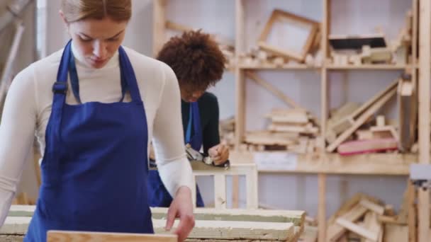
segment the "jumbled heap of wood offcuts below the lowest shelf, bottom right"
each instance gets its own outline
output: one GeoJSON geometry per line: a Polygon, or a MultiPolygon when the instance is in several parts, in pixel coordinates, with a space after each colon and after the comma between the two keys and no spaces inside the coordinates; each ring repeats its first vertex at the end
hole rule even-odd
{"type": "Polygon", "coordinates": [[[326,235],[326,241],[408,241],[408,226],[391,205],[357,194],[329,219],[326,235]]]}

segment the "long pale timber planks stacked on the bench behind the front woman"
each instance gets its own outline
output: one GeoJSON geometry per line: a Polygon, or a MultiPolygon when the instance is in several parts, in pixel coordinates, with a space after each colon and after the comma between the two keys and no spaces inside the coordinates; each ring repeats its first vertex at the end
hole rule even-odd
{"type": "MultiPolygon", "coordinates": [[[[6,238],[9,241],[22,241],[34,209],[35,206],[12,206],[0,229],[1,241],[6,238]]],[[[151,208],[151,212],[155,234],[172,233],[164,229],[167,208],[151,208]]],[[[195,227],[186,241],[296,242],[303,233],[305,220],[303,211],[264,209],[197,208],[194,215],[195,227]]],[[[175,221],[172,231],[178,222],[175,221]]],[[[88,238],[91,236],[95,235],[90,234],[88,238]]]]}

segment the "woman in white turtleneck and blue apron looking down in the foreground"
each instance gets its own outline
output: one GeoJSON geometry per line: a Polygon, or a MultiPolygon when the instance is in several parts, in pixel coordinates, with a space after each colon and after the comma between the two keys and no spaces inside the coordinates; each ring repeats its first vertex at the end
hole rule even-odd
{"type": "Polygon", "coordinates": [[[177,78],[166,64],[122,47],[130,0],[62,0],[71,40],[13,80],[0,125],[0,225],[33,136],[43,182],[25,241],[51,229],[153,233],[147,146],[174,197],[167,229],[194,226],[177,78]]]}

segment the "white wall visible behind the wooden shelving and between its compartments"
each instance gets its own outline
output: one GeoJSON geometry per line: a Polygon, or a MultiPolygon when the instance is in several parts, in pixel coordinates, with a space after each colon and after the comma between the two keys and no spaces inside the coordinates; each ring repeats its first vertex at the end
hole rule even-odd
{"type": "MultiPolygon", "coordinates": [[[[58,17],[59,1],[47,0],[47,52],[58,50],[67,41],[64,28],[58,17]]],[[[301,16],[320,21],[321,0],[247,0],[246,35],[247,46],[252,45],[274,7],[292,11],[301,16]]],[[[393,38],[404,21],[410,0],[334,0],[332,1],[332,33],[371,33],[381,25],[389,38],[393,38]]],[[[227,38],[235,38],[235,1],[231,0],[169,0],[167,16],[169,20],[203,28],[227,38]]],[[[133,0],[133,18],[130,22],[125,45],[143,54],[152,53],[152,1],[133,0]]],[[[333,71],[330,73],[330,106],[335,108],[346,101],[364,102],[379,89],[387,86],[400,73],[398,71],[333,71]]],[[[291,96],[315,115],[320,115],[320,74],[316,71],[261,71],[264,79],[291,96]]],[[[235,79],[226,72],[223,80],[211,88],[220,102],[220,117],[235,115],[235,79]]],[[[247,129],[262,129],[262,118],[274,107],[284,107],[284,103],[267,93],[251,81],[247,81],[247,129]],[[252,110],[251,110],[252,107],[252,110]]],[[[395,102],[385,107],[384,113],[395,117],[395,102]]],[[[332,175],[328,177],[328,216],[340,207],[347,197],[355,192],[366,192],[399,207],[405,177],[332,175]]],[[[204,200],[213,200],[212,179],[199,179],[204,200]]],[[[244,180],[241,180],[244,188],[244,180]]],[[[230,181],[228,182],[230,187],[230,181]]],[[[242,189],[244,190],[244,189],[242,189]]],[[[228,192],[230,195],[230,192],[228,192]]],[[[245,194],[240,192],[242,205],[245,194]]],[[[317,214],[317,178],[315,175],[274,175],[259,174],[259,202],[282,209],[305,209],[310,215],[317,214]]]]}

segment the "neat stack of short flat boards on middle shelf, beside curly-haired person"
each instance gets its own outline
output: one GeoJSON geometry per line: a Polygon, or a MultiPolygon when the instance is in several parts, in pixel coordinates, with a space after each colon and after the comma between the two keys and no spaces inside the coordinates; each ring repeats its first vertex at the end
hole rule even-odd
{"type": "Polygon", "coordinates": [[[245,142],[249,150],[277,149],[298,154],[315,151],[319,129],[306,110],[274,109],[266,117],[271,120],[267,130],[247,133],[245,142]]]}

